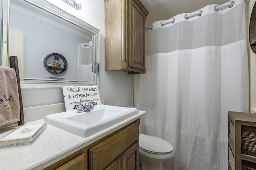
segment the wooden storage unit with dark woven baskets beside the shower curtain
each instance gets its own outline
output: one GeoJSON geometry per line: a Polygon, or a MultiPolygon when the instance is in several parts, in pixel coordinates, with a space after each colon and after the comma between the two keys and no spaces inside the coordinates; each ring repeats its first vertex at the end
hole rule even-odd
{"type": "Polygon", "coordinates": [[[228,169],[256,170],[256,114],[228,111],[228,169]]]}

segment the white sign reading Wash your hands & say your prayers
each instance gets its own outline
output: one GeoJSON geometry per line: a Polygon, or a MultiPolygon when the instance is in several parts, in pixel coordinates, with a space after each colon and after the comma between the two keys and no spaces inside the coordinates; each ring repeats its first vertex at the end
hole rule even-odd
{"type": "Polygon", "coordinates": [[[66,111],[77,109],[79,104],[74,102],[81,102],[85,106],[95,99],[92,104],[101,104],[98,86],[64,86],[62,90],[66,111]]]}

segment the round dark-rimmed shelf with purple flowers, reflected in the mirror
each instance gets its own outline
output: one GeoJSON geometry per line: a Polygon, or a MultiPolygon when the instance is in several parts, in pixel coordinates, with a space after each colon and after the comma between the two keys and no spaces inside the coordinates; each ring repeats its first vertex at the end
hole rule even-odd
{"type": "Polygon", "coordinates": [[[46,55],[46,57],[44,57],[44,68],[50,72],[50,73],[62,73],[64,71],[66,71],[68,67],[68,63],[67,60],[65,59],[65,57],[61,54],[58,53],[52,53],[49,55],[46,55]],[[58,59],[58,67],[54,67],[54,55],[58,55],[60,56],[60,59],[58,59]],[[64,66],[60,66],[60,64],[64,64],[64,66]]]}

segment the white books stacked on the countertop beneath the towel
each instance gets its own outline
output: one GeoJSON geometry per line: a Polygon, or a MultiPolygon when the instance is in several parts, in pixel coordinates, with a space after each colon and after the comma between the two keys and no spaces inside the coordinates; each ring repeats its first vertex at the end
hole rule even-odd
{"type": "Polygon", "coordinates": [[[0,148],[31,144],[46,128],[47,123],[22,125],[0,139],[0,148]]]}

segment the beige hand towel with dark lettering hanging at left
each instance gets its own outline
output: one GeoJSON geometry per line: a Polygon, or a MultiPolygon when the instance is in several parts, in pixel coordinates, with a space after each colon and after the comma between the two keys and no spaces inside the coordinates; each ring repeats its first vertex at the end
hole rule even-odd
{"type": "Polygon", "coordinates": [[[0,66],[0,126],[20,121],[20,101],[16,72],[0,66]]]}

